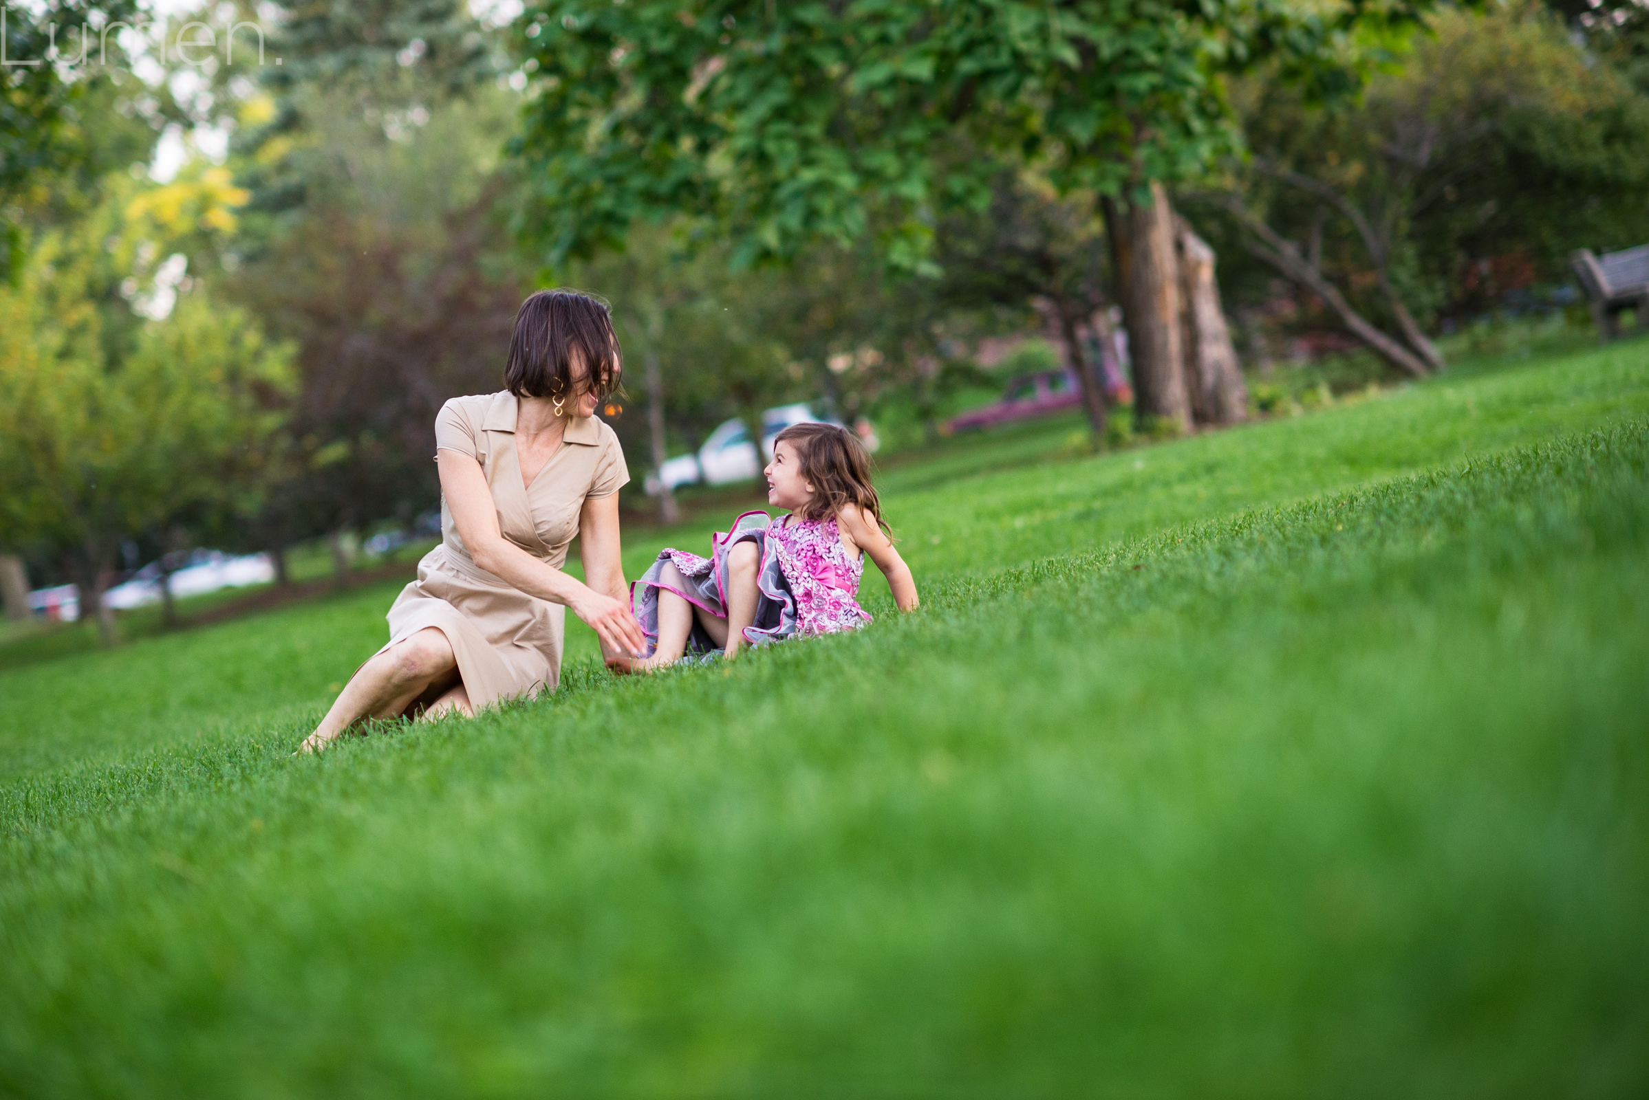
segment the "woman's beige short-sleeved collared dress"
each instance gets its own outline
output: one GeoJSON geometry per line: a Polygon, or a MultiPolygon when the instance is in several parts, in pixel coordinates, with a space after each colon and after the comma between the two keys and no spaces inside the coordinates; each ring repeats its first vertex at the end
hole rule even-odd
{"type": "MultiPolygon", "coordinates": [[[[584,501],[617,492],[630,471],[613,430],[594,417],[579,418],[567,425],[561,450],[528,487],[516,459],[514,422],[516,399],[510,392],[453,397],[435,417],[435,450],[477,459],[493,491],[498,530],[559,570],[579,534],[584,501]]],[[[434,626],[452,644],[463,688],[480,708],[556,688],[566,613],[477,566],[444,497],[440,545],[424,555],[417,580],[389,608],[384,649],[434,626]]]]}

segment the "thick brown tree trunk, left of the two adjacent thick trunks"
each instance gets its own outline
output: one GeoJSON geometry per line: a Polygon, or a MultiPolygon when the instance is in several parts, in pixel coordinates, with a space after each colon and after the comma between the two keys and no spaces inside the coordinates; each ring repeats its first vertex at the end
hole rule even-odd
{"type": "Polygon", "coordinates": [[[1187,431],[1191,400],[1179,329],[1174,209],[1163,184],[1151,183],[1151,201],[1143,206],[1105,199],[1105,229],[1116,263],[1116,300],[1128,328],[1135,417],[1141,426],[1166,420],[1187,431]]]}

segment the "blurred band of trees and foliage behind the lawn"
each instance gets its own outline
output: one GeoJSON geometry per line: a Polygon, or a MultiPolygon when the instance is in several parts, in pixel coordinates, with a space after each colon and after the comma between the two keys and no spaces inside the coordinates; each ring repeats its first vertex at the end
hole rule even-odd
{"type": "Polygon", "coordinates": [[[1100,372],[1131,344],[1156,400],[1118,267],[1156,184],[1219,257],[1248,415],[1586,341],[1568,252],[1649,242],[1649,40],[1609,0],[30,12],[13,58],[155,20],[0,81],[0,552],[94,608],[195,545],[323,540],[341,576],[414,530],[435,410],[500,385],[541,285],[613,303],[650,510],[648,468],[796,400],[899,450],[1069,366],[1125,443],[1100,372]]]}

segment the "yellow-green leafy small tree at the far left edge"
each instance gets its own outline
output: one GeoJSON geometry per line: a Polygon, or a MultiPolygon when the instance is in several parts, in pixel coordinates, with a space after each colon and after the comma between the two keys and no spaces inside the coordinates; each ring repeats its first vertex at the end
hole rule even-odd
{"type": "Polygon", "coordinates": [[[107,221],[48,234],[0,290],[0,547],[61,558],[114,644],[124,538],[256,506],[290,352],[204,290],[107,331],[107,221]]]}

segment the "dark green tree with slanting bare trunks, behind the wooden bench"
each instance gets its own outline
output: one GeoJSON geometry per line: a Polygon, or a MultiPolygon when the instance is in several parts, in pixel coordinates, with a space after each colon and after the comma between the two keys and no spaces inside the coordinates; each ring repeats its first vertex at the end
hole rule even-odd
{"type": "Polygon", "coordinates": [[[1425,328],[1473,263],[1522,255],[1563,278],[1570,249],[1649,234],[1649,99],[1530,5],[1441,12],[1430,31],[1355,97],[1238,87],[1253,158],[1207,196],[1410,375],[1441,369],[1425,328]]]}

